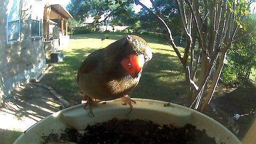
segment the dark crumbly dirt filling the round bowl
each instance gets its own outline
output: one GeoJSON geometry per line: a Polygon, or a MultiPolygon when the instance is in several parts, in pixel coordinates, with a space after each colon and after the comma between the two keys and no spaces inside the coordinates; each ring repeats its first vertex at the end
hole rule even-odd
{"type": "Polygon", "coordinates": [[[216,143],[207,136],[205,130],[186,124],[183,127],[154,124],[140,119],[111,119],[110,121],[88,125],[84,130],[66,128],[61,134],[51,133],[42,137],[43,143],[216,143]]]}

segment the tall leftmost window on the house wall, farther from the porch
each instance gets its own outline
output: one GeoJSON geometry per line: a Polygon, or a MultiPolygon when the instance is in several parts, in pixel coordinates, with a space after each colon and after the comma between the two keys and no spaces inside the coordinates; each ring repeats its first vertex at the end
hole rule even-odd
{"type": "Polygon", "coordinates": [[[7,43],[20,41],[20,0],[10,0],[7,5],[7,43]]]}

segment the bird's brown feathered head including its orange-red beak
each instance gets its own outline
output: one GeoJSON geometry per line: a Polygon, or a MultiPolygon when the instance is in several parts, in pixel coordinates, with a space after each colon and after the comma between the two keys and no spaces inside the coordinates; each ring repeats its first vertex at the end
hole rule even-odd
{"type": "Polygon", "coordinates": [[[143,38],[134,35],[126,36],[123,46],[126,55],[121,60],[121,66],[132,78],[136,78],[145,63],[152,59],[152,50],[143,38]]]}

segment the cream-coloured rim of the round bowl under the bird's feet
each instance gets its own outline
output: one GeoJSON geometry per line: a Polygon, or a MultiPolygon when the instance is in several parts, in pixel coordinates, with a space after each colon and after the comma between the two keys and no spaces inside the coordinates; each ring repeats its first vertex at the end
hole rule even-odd
{"type": "Polygon", "coordinates": [[[113,118],[142,119],[159,125],[173,124],[177,127],[190,123],[199,130],[204,129],[206,134],[209,137],[214,137],[217,143],[241,143],[225,126],[196,110],[164,101],[133,100],[137,103],[133,104],[130,114],[129,106],[123,106],[121,99],[98,103],[92,108],[94,117],[90,114],[89,108],[83,108],[84,105],[60,110],[31,126],[14,143],[42,143],[42,136],[52,132],[61,133],[61,130],[65,130],[66,127],[82,130],[87,125],[106,122],[113,118]]]}

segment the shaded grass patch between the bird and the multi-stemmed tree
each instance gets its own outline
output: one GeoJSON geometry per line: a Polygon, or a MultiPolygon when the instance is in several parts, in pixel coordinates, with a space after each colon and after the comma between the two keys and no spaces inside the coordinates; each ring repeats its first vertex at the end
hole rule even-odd
{"type": "Polygon", "coordinates": [[[182,70],[174,56],[154,53],[154,58],[143,69],[141,81],[131,92],[131,97],[172,102],[187,93],[182,70]]]}

